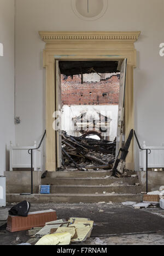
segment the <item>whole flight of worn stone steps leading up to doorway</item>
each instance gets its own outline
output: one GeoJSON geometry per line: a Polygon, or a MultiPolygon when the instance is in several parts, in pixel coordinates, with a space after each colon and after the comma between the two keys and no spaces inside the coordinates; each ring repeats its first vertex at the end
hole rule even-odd
{"type": "MultiPolygon", "coordinates": [[[[34,173],[35,174],[35,173],[34,173]]],[[[136,175],[136,172],[128,171],[127,175],[136,175]]],[[[38,185],[33,186],[31,195],[30,183],[24,186],[8,184],[7,202],[38,203],[97,203],[97,202],[125,202],[142,201],[144,191],[136,177],[111,177],[111,171],[57,171],[48,172],[44,179],[38,177],[38,185]],[[50,185],[50,194],[39,194],[39,184],[50,185]],[[106,193],[103,193],[106,192],[106,193]],[[115,192],[115,193],[112,193],[115,192]]],[[[22,174],[22,179],[25,175],[22,174]]],[[[25,183],[25,182],[24,182],[25,183]]]]}

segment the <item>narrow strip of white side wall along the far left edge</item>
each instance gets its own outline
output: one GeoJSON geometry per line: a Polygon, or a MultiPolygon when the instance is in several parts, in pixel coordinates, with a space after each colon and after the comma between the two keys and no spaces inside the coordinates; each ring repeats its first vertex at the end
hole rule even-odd
{"type": "Polygon", "coordinates": [[[14,142],[14,0],[0,0],[0,175],[9,170],[9,144],[14,142]]]}

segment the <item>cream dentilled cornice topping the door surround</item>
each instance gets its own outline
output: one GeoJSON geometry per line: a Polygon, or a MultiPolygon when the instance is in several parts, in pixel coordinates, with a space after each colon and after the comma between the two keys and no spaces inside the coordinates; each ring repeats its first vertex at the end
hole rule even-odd
{"type": "Polygon", "coordinates": [[[109,31],[39,31],[39,35],[46,43],[56,41],[116,41],[116,42],[136,42],[140,31],[109,32],[109,31]]]}

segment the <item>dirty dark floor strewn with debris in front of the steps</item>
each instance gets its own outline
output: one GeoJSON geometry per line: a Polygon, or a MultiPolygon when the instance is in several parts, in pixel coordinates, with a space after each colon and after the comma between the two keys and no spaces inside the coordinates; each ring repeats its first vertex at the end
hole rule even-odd
{"type": "MultiPolygon", "coordinates": [[[[0,218],[5,209],[0,208],[0,218]]],[[[164,211],[157,208],[133,209],[121,203],[68,204],[47,203],[31,204],[30,212],[55,209],[58,219],[71,216],[90,218],[94,221],[91,237],[80,245],[114,245],[114,244],[164,244],[164,211]]],[[[36,243],[30,240],[26,231],[10,233],[0,221],[0,245],[36,243]],[[30,241],[29,241],[30,240],[30,241]]]]}

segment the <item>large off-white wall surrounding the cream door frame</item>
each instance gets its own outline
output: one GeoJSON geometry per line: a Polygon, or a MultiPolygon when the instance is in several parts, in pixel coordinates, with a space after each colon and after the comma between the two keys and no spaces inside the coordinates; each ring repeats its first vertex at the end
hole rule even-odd
{"type": "MultiPolygon", "coordinates": [[[[71,0],[16,0],[16,141],[31,144],[45,127],[44,42],[39,30],[141,31],[136,42],[134,71],[135,127],[139,141],[164,142],[163,64],[159,45],[164,42],[163,0],[110,0],[102,18],[84,21],[71,9],[71,0]]],[[[136,169],[139,165],[135,153],[136,169]]]]}

